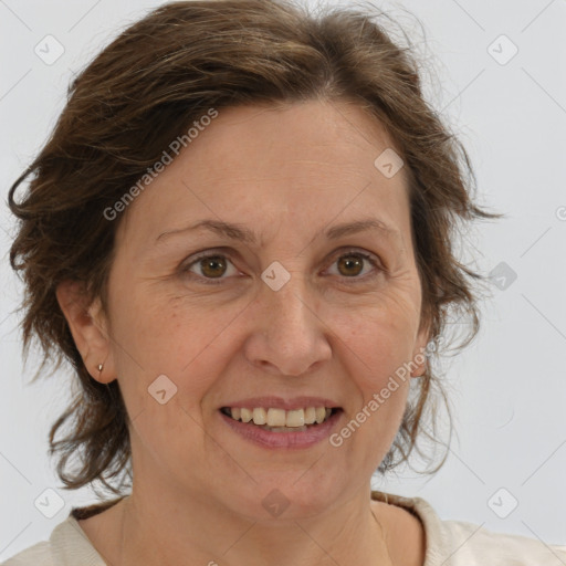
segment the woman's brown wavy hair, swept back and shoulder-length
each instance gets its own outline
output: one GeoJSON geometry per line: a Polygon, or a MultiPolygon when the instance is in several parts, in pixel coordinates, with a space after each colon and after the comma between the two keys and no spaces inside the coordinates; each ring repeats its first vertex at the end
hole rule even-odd
{"type": "MultiPolygon", "coordinates": [[[[410,40],[403,32],[408,46],[396,44],[380,18],[389,21],[375,8],[326,6],[314,13],[291,0],[167,3],[122,32],[72,81],[49,140],[8,197],[19,219],[10,263],[24,283],[23,356],[35,338],[43,357],[34,379],[46,365],[56,370],[66,360],[80,384],[49,438],[64,489],[101,482],[123,494],[132,485],[132,462],[118,382],[91,377],[55,290],[65,280],[82,282],[86,296],[99,297],[106,310],[123,218],[111,222],[104,210],[211,107],[347,99],[365,108],[395,142],[408,171],[421,316],[430,321],[431,338],[444,337],[451,313],[470,322],[459,348],[476,335],[474,283],[483,276],[458,261],[453,243],[459,226],[500,214],[472,201],[475,178],[467,151],[424,101],[410,40]],[[27,178],[28,190],[17,201],[27,178]],[[66,436],[55,440],[65,422],[66,436]],[[73,458],[78,467],[67,470],[73,458]]],[[[437,400],[447,400],[432,361],[449,343],[432,353],[420,379],[411,379],[381,473],[408,461],[418,437],[434,440],[423,416],[429,408],[436,417],[437,400]]]]}

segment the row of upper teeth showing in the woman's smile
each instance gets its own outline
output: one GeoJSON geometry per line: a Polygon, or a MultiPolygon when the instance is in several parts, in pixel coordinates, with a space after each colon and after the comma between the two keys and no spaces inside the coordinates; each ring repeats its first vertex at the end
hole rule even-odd
{"type": "Polygon", "coordinates": [[[332,413],[332,409],[326,407],[306,407],[305,409],[293,409],[286,411],[285,409],[255,407],[253,409],[245,409],[234,407],[230,409],[232,419],[241,420],[242,422],[252,422],[266,430],[273,432],[289,432],[290,430],[303,431],[306,430],[306,424],[321,424],[332,413]]]}

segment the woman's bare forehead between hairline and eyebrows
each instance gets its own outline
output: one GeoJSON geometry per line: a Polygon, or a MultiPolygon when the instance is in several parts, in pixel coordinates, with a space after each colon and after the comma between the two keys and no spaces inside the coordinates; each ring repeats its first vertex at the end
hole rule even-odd
{"type": "Polygon", "coordinates": [[[274,223],[319,231],[333,219],[371,212],[403,232],[410,229],[406,175],[401,168],[388,178],[376,167],[386,150],[395,150],[391,139],[353,103],[219,109],[128,207],[119,238],[146,245],[203,218],[260,234],[274,223]]]}

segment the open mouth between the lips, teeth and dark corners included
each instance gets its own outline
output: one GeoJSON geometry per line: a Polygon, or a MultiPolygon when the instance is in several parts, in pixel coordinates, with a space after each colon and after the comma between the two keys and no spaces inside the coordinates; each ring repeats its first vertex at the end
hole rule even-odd
{"type": "Polygon", "coordinates": [[[222,407],[220,412],[234,421],[276,433],[306,432],[340,412],[339,407],[305,407],[285,410],[279,407],[222,407]]]}

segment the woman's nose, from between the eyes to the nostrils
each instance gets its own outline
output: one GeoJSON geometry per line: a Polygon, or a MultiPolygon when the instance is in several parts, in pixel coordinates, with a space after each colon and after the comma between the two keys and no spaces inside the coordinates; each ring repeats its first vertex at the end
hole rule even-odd
{"type": "Polygon", "coordinates": [[[265,285],[253,306],[245,342],[250,364],[272,375],[302,376],[331,359],[329,327],[319,304],[298,275],[279,291],[265,285]]]}

